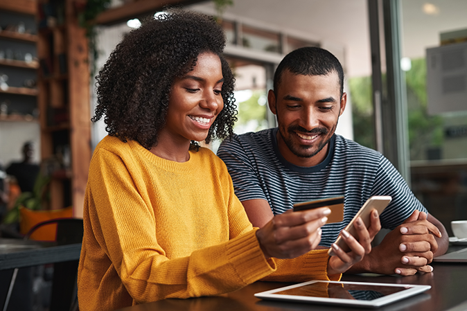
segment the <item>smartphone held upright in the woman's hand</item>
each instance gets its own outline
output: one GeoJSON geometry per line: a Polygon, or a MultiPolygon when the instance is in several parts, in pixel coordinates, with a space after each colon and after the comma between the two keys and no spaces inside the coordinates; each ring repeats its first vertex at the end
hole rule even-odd
{"type": "MultiPolygon", "coordinates": [[[[371,224],[370,220],[370,214],[373,209],[376,209],[378,211],[378,215],[381,215],[382,211],[386,208],[386,206],[391,202],[392,197],[389,195],[375,195],[373,197],[370,197],[367,199],[367,202],[363,204],[362,208],[360,208],[360,211],[353,217],[351,222],[345,227],[345,231],[349,232],[354,238],[358,240],[358,234],[357,234],[357,229],[355,229],[355,226],[353,226],[353,222],[357,219],[357,217],[361,217],[363,223],[365,226],[368,228],[371,224]]],[[[344,239],[342,239],[341,236],[337,237],[337,240],[335,241],[335,244],[337,244],[338,247],[343,249],[346,253],[349,252],[351,249],[350,247],[344,242],[344,239]]],[[[329,256],[334,256],[335,253],[332,248],[329,249],[328,251],[329,256]]]]}

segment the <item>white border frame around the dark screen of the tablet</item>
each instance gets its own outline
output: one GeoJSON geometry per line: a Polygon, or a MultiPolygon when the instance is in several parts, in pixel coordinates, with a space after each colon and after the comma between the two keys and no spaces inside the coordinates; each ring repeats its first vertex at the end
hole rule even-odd
{"type": "Polygon", "coordinates": [[[279,287],[274,290],[267,290],[265,292],[259,292],[254,294],[257,298],[275,300],[275,301],[294,301],[294,302],[303,302],[303,303],[321,303],[321,304],[332,304],[332,305],[350,305],[350,306],[361,306],[365,308],[378,308],[382,305],[387,305],[389,303],[394,303],[400,301],[409,296],[414,296],[420,294],[427,290],[430,290],[430,285],[414,285],[414,284],[391,284],[391,283],[370,283],[370,282],[351,282],[351,281],[308,281],[303,283],[298,283],[294,285],[289,285],[285,287],[279,287]],[[396,292],[389,294],[387,296],[382,296],[371,301],[367,300],[353,300],[353,299],[340,299],[340,298],[328,298],[328,297],[310,297],[310,296],[295,296],[295,295],[284,295],[284,294],[274,294],[274,292],[280,292],[283,290],[290,290],[292,288],[301,287],[303,285],[308,285],[312,283],[342,283],[342,284],[355,284],[355,285],[376,285],[376,286],[387,286],[387,287],[409,287],[406,290],[401,292],[396,292]]]}

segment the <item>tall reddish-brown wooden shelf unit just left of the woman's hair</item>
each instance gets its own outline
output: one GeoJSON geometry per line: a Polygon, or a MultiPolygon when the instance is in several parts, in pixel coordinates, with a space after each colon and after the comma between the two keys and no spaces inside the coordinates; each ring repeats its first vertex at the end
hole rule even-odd
{"type": "Polygon", "coordinates": [[[37,16],[37,102],[42,162],[51,177],[49,208],[73,206],[73,216],[82,217],[91,160],[87,37],[71,0],[41,0],[37,16]]]}

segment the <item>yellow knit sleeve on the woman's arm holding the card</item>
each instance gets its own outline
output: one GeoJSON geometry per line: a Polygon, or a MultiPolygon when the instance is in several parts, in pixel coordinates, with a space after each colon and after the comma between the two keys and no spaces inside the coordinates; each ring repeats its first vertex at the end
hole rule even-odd
{"type": "Polygon", "coordinates": [[[94,236],[137,303],[231,292],[274,272],[252,229],[191,256],[168,258],[154,211],[133,178],[120,157],[101,149],[91,162],[88,191],[94,236]]]}

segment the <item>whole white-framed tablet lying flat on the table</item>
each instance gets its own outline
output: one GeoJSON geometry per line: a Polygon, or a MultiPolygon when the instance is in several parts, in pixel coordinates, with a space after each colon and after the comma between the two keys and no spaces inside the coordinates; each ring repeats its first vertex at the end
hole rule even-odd
{"type": "Polygon", "coordinates": [[[260,292],[254,296],[276,301],[295,301],[346,305],[363,308],[378,308],[409,296],[430,290],[430,285],[308,281],[276,290],[260,292]]]}

